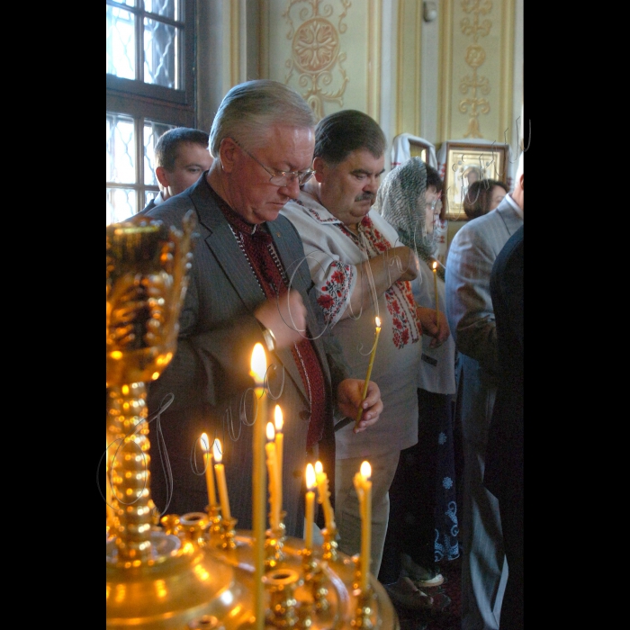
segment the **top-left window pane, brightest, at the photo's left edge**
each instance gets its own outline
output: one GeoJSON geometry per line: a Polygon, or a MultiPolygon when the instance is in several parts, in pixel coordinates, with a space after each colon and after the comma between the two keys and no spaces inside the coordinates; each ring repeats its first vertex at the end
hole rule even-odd
{"type": "Polygon", "coordinates": [[[105,72],[122,78],[136,78],[135,16],[109,4],[106,9],[105,72]]]}

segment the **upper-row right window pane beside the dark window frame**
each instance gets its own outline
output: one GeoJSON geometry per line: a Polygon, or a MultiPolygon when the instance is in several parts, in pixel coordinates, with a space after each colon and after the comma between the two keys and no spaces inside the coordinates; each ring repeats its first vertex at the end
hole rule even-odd
{"type": "Polygon", "coordinates": [[[175,26],[144,20],[144,81],[179,89],[177,47],[179,30],[175,26]]]}

